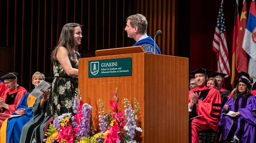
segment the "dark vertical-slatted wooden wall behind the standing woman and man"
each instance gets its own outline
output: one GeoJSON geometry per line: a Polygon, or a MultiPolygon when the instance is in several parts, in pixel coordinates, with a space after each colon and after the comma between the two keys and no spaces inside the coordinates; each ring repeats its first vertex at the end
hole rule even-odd
{"type": "MultiPolygon", "coordinates": [[[[36,71],[53,76],[50,54],[57,45],[62,27],[76,22],[84,25],[79,52],[83,58],[94,57],[95,50],[129,47],[126,18],[143,14],[148,20],[147,34],[154,38],[165,55],[174,55],[175,27],[173,1],[153,0],[0,0],[0,47],[12,48],[11,64],[0,67],[19,72],[18,83],[33,88],[31,76],[36,71]],[[5,22],[2,22],[5,21],[5,22]]],[[[177,55],[176,55],[177,56],[177,55]]]]}

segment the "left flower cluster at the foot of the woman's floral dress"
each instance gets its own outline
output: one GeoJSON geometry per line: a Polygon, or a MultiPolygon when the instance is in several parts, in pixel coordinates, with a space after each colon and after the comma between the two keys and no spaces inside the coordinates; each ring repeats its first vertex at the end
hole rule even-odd
{"type": "Polygon", "coordinates": [[[87,103],[83,104],[78,92],[78,89],[76,89],[77,94],[75,95],[73,106],[75,115],[64,113],[54,117],[53,124],[50,123],[49,129],[47,129],[46,136],[48,137],[43,140],[44,142],[77,143],[82,141],[82,137],[90,137],[94,134],[91,127],[91,111],[93,107],[87,103]]]}

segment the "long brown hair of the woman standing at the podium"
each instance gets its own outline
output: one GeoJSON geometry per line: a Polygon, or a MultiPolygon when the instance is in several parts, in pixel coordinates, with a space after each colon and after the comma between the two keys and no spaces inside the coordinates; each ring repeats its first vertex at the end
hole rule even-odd
{"type": "Polygon", "coordinates": [[[62,31],[59,36],[59,41],[58,45],[55,47],[55,49],[52,51],[51,54],[51,60],[55,61],[56,59],[56,54],[58,51],[58,47],[65,47],[68,54],[71,57],[72,61],[75,61],[75,53],[74,51],[78,52],[78,46],[75,43],[75,38],[74,38],[74,28],[76,26],[79,26],[82,28],[82,25],[78,23],[67,23],[63,26],[62,31]]]}

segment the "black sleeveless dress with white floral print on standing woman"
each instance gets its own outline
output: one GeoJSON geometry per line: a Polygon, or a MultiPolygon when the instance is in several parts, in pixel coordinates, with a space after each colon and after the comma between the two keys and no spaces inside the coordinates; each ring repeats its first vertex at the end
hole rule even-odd
{"type": "MultiPolygon", "coordinates": [[[[72,68],[78,69],[79,54],[75,53],[76,62],[72,61],[70,56],[70,63],[72,68]]],[[[78,78],[71,77],[66,74],[58,60],[53,62],[54,80],[52,82],[52,89],[47,102],[46,116],[60,116],[63,113],[73,113],[73,100],[75,91],[78,87],[78,78]]]]}

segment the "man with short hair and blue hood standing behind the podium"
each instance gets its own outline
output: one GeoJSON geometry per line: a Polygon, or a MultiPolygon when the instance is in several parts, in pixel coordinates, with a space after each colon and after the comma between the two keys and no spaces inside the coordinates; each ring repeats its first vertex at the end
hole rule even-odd
{"type": "Polygon", "coordinates": [[[127,36],[136,41],[132,46],[142,46],[146,52],[154,53],[155,51],[156,54],[161,54],[157,44],[147,35],[147,27],[148,21],[142,14],[134,14],[126,19],[125,31],[127,31],[127,36]]]}

